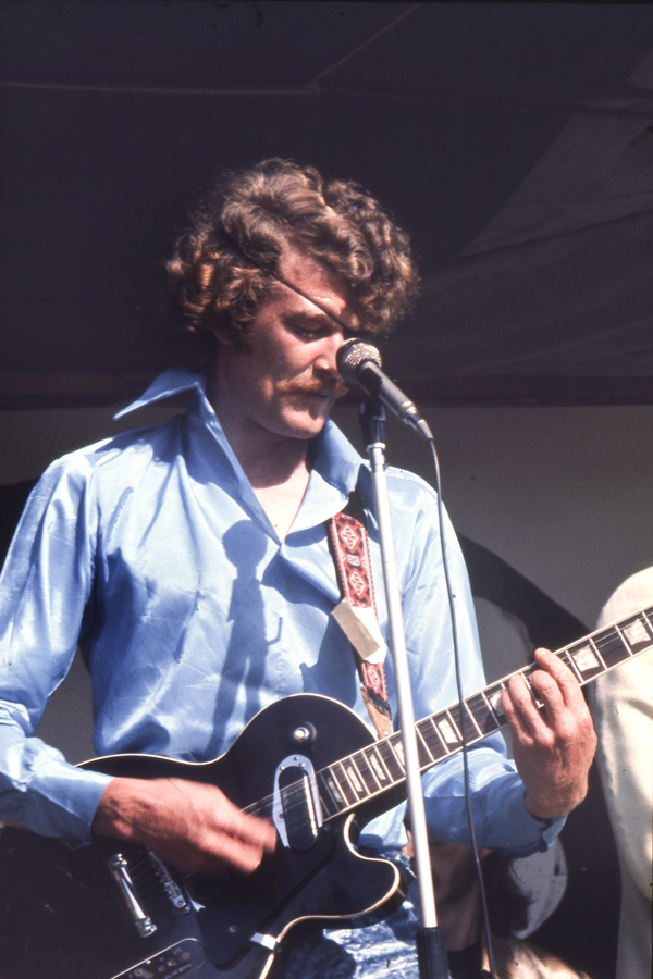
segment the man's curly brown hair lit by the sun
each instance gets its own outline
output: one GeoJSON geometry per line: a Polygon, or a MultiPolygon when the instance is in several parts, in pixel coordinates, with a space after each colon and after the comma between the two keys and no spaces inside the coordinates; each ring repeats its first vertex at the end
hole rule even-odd
{"type": "Polygon", "coordinates": [[[348,284],[365,334],[386,335],[406,311],[417,285],[408,236],[379,202],[352,181],[264,160],[220,178],[174,246],[167,306],[177,356],[206,367],[217,327],[246,344],[288,246],[348,284]]]}

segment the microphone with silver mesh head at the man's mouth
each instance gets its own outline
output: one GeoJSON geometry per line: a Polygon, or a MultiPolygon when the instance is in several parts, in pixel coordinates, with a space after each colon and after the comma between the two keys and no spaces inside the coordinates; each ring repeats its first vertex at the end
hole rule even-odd
{"type": "Polygon", "coordinates": [[[354,337],[345,340],[335,359],[347,384],[358,384],[366,394],[383,401],[398,419],[419,432],[422,438],[432,441],[431,430],[410,398],[381,370],[381,355],[375,347],[354,337]]]}

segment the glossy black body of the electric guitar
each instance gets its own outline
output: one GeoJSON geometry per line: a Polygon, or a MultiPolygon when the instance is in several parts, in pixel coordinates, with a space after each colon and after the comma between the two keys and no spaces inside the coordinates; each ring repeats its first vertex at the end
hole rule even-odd
{"type": "MultiPolygon", "coordinates": [[[[83,767],[209,782],[246,809],[271,802],[275,771],[286,759],[300,754],[318,771],[371,742],[367,727],[347,707],[306,694],[266,708],[215,761],[120,755],[83,767]],[[300,744],[298,729],[308,732],[300,744]]],[[[0,977],[260,979],[272,965],[274,942],[295,922],[347,918],[392,897],[401,901],[396,868],[358,855],[350,845],[356,833],[353,815],[325,821],[308,843],[291,833],[289,845],[280,840],[255,873],[197,882],[190,891],[194,907],[173,880],[177,903],[185,904],[178,907],[169,893],[170,878],[162,878],[141,847],[99,839],[71,850],[7,827],[0,832],[0,977]],[[156,927],[151,934],[139,933],[138,916],[109,867],[116,854],[126,862],[140,912],[156,927]],[[204,907],[196,910],[197,904],[204,907]]]]}

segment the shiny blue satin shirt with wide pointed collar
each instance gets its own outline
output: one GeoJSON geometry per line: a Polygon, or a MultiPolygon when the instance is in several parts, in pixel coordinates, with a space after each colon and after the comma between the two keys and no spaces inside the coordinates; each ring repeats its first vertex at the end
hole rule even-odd
{"type": "MultiPolygon", "coordinates": [[[[331,618],[340,594],[324,528],[357,484],[371,509],[367,463],[328,421],[280,542],[200,375],[167,371],[125,411],[189,388],[185,414],[63,457],[29,498],[0,582],[0,819],[73,844],[91,838],[108,778],[33,736],[78,642],[93,676],[99,755],[210,760],[266,705],[303,692],[342,701],[369,721],[352,649],[331,618]]],[[[389,492],[419,718],[457,699],[435,495],[396,469],[389,492]]],[[[467,695],[484,678],[448,524],[446,535],[467,695]]],[[[373,518],[369,536],[386,634],[373,518]]],[[[387,681],[394,708],[390,657],[387,681]]],[[[545,847],[562,821],[549,827],[528,814],[503,740],[494,735],[469,756],[479,844],[518,854],[545,847]]],[[[433,838],[465,842],[460,756],[428,772],[424,785],[433,838]]],[[[361,843],[401,844],[403,815],[397,807],[369,823],[361,843]]]]}

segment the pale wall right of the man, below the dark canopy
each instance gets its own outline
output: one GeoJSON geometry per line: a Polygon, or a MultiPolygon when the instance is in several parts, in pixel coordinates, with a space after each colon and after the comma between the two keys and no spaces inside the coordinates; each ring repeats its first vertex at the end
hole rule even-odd
{"type": "MultiPolygon", "coordinates": [[[[653,562],[653,406],[424,411],[456,529],[593,625],[611,591],[653,562]]],[[[429,478],[389,429],[389,461],[429,478]]]]}

